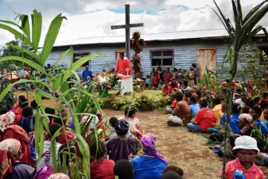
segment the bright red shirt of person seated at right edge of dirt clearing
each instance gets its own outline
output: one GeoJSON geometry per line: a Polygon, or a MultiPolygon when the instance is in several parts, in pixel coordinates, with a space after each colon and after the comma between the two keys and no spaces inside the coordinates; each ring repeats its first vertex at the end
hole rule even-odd
{"type": "Polygon", "coordinates": [[[194,123],[198,124],[201,130],[207,132],[208,128],[214,126],[212,123],[215,123],[215,118],[212,111],[209,108],[203,107],[197,112],[197,115],[193,121],[194,123]]]}

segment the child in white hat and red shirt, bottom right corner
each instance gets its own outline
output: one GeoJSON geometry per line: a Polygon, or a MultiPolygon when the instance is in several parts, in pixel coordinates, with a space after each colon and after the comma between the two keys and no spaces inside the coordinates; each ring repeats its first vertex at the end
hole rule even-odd
{"type": "MultiPolygon", "coordinates": [[[[249,136],[241,136],[235,140],[233,148],[237,158],[226,164],[225,177],[233,178],[258,178],[264,179],[263,172],[254,163],[256,154],[259,151],[257,141],[249,136]]],[[[220,173],[219,177],[223,174],[220,173]]]]}

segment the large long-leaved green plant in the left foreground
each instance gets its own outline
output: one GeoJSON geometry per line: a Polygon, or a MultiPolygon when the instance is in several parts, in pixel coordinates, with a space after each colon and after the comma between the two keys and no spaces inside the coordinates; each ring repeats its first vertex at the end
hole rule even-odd
{"type": "MultiPolygon", "coordinates": [[[[87,129],[86,124],[80,125],[81,119],[84,115],[86,116],[93,116],[96,117],[94,112],[96,110],[100,110],[102,112],[102,109],[100,107],[100,104],[98,100],[93,95],[93,89],[89,88],[86,89],[83,86],[80,85],[80,78],[75,73],[75,71],[86,61],[94,58],[94,57],[102,57],[100,54],[94,54],[89,55],[81,58],[80,60],[76,61],[75,63],[72,63],[72,58],[74,54],[74,50],[72,47],[70,47],[68,50],[66,50],[61,57],[58,59],[58,61],[52,66],[52,69],[46,71],[43,67],[48,55],[51,53],[54,42],[57,38],[57,35],[59,33],[62,21],[66,19],[66,17],[61,16],[61,14],[57,15],[50,27],[48,28],[42,52],[40,54],[37,53],[38,47],[39,47],[39,41],[41,36],[41,27],[42,27],[42,15],[40,12],[37,12],[36,10],[33,11],[33,14],[31,15],[32,18],[32,26],[30,27],[30,20],[28,15],[19,15],[19,22],[20,25],[17,25],[13,23],[12,21],[7,20],[0,20],[0,29],[4,29],[12,33],[13,35],[17,36],[19,39],[22,40],[22,43],[26,43],[28,46],[30,46],[33,51],[29,51],[27,49],[24,49],[23,47],[19,46],[12,46],[15,49],[18,49],[22,51],[21,56],[5,56],[0,58],[0,62],[7,61],[7,60],[15,60],[22,62],[22,66],[25,64],[31,66],[34,69],[37,69],[41,73],[43,73],[47,78],[47,83],[38,80],[38,79],[31,79],[31,80],[19,80],[13,84],[8,85],[2,94],[0,95],[0,101],[4,99],[6,94],[9,92],[9,90],[17,84],[22,83],[32,83],[32,84],[38,84],[46,87],[50,91],[53,92],[52,95],[46,94],[42,92],[39,88],[36,89],[34,92],[34,99],[38,104],[37,112],[36,112],[36,119],[35,119],[35,144],[36,144],[36,150],[38,152],[39,156],[42,156],[43,148],[44,148],[44,135],[43,135],[43,128],[45,128],[48,131],[48,126],[46,123],[46,116],[54,116],[45,114],[44,108],[49,107],[53,108],[55,110],[61,111],[63,108],[68,107],[70,110],[70,115],[62,118],[60,115],[60,118],[62,120],[65,120],[66,118],[72,117],[74,119],[76,130],[71,130],[75,135],[76,139],[73,141],[78,144],[79,150],[81,155],[83,156],[82,159],[76,157],[76,165],[69,165],[70,175],[71,178],[90,178],[90,168],[89,166],[89,159],[90,159],[90,153],[89,153],[89,147],[87,144],[87,141],[92,139],[93,141],[96,141],[98,143],[99,136],[102,135],[101,133],[98,133],[97,130],[99,127],[94,127],[94,130],[85,138],[85,131],[87,129]],[[7,26],[5,24],[9,24],[12,26],[15,26],[20,29],[21,33],[14,28],[7,26]],[[31,30],[30,30],[31,29],[31,30]],[[32,33],[31,33],[32,32],[32,33]],[[31,59],[28,59],[24,56],[24,54],[27,53],[32,58],[35,58],[38,62],[34,62],[31,59]],[[67,70],[62,71],[61,73],[56,74],[53,76],[52,71],[57,69],[57,64],[65,57],[66,54],[70,53],[70,67],[67,70]],[[74,85],[74,87],[69,88],[67,81],[71,75],[75,76],[75,79],[72,80],[73,83],[77,85],[77,87],[74,85]],[[74,102],[75,95],[77,95],[77,103],[74,102]],[[56,106],[45,106],[42,104],[41,97],[44,96],[48,99],[52,99],[56,102],[56,106]],[[90,102],[91,101],[91,102],[90,102]],[[39,117],[40,115],[40,117],[39,117]],[[83,173],[79,171],[79,161],[83,163],[83,173]]],[[[106,60],[105,60],[106,61],[106,60]]],[[[108,62],[106,61],[107,65],[108,62]]],[[[62,123],[63,124],[63,123],[62,123]]],[[[88,124],[89,125],[89,124],[88,124]]],[[[65,128],[62,128],[65,138],[67,139],[65,128]]],[[[57,172],[57,161],[56,161],[56,141],[55,138],[57,136],[61,135],[60,130],[55,133],[52,139],[52,161],[53,161],[53,169],[54,172],[57,172]]],[[[69,149],[69,146],[68,146],[69,149]]],[[[40,157],[37,160],[37,163],[40,161],[40,157]]],[[[70,161],[71,164],[71,161],[70,161]]],[[[63,172],[66,173],[66,165],[63,163],[63,172]]]]}

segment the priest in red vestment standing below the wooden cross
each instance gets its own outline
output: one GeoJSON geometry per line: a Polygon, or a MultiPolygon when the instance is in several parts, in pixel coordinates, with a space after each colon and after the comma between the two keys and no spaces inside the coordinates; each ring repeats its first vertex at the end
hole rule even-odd
{"type": "Polygon", "coordinates": [[[125,57],[124,53],[120,53],[114,72],[122,75],[132,75],[130,61],[125,57]]]}

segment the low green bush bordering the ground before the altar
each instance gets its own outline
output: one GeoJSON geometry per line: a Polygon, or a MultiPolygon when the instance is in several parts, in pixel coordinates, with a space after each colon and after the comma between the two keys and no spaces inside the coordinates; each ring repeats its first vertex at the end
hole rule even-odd
{"type": "Polygon", "coordinates": [[[115,98],[114,96],[109,96],[104,99],[102,107],[110,109],[121,109],[121,107],[125,106],[126,104],[131,104],[133,102],[139,103],[139,106],[137,106],[139,110],[160,109],[166,105],[171,104],[169,97],[162,97],[160,99],[157,99],[150,95],[141,95],[135,97],[133,100],[129,100],[124,97],[115,98]]]}

